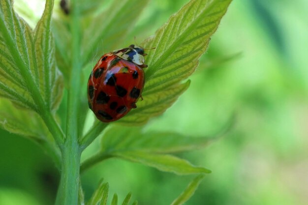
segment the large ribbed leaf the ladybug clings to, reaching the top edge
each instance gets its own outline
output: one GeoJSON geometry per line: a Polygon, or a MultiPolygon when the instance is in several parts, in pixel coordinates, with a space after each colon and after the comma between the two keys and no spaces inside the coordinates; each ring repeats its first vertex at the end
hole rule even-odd
{"type": "MultiPolygon", "coordinates": [[[[168,22],[156,31],[154,37],[143,43],[149,51],[143,101],[137,109],[124,117],[123,123],[145,123],[150,117],[163,113],[182,93],[177,88],[198,65],[205,53],[211,35],[216,31],[231,0],[191,0],[168,22]],[[171,90],[170,90],[171,89],[171,90]],[[171,97],[162,90],[168,90],[171,97]],[[164,98],[163,101],[161,99],[164,98]],[[158,104],[158,106],[157,106],[158,104]]],[[[182,85],[183,86],[183,85],[182,85]]],[[[183,89],[182,91],[184,91],[183,89]]]]}

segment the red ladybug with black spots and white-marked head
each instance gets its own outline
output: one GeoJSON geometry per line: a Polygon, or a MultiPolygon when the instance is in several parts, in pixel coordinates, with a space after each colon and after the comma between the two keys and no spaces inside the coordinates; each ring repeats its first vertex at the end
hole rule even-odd
{"type": "Polygon", "coordinates": [[[89,107],[103,122],[124,117],[141,96],[145,83],[144,49],[135,45],[103,55],[88,81],[89,107]]]}

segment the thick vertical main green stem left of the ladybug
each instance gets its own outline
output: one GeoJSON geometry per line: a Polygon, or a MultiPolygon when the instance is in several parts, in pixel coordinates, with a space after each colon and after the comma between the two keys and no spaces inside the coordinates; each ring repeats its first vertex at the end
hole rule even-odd
{"type": "Polygon", "coordinates": [[[78,144],[78,108],[81,85],[80,21],[77,0],[71,0],[70,30],[72,33],[71,70],[68,83],[66,138],[62,148],[62,170],[58,205],[77,205],[81,150],[78,144]]]}

